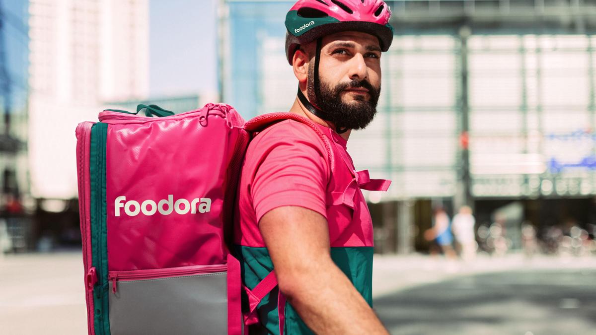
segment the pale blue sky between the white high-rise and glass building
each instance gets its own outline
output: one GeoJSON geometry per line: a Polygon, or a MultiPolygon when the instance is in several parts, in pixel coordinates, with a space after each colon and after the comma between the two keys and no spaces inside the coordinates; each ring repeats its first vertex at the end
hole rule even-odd
{"type": "Polygon", "coordinates": [[[218,0],[150,0],[150,95],[217,92],[218,0]]]}

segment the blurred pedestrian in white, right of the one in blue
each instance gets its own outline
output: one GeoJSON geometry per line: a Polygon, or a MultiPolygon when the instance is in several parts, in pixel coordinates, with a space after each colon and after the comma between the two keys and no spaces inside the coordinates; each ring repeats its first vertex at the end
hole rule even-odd
{"type": "Polygon", "coordinates": [[[474,225],[476,225],[476,219],[472,215],[472,209],[469,206],[460,207],[460,211],[453,217],[451,230],[455,235],[457,250],[463,260],[471,260],[476,256],[478,244],[476,243],[476,234],[474,234],[474,225]]]}

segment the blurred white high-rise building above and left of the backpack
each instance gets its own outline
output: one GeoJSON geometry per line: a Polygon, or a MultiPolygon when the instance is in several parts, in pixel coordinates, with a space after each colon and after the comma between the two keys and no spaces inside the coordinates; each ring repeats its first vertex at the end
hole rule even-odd
{"type": "Polygon", "coordinates": [[[147,98],[148,0],[31,0],[29,163],[36,198],[77,196],[77,123],[147,98]]]}

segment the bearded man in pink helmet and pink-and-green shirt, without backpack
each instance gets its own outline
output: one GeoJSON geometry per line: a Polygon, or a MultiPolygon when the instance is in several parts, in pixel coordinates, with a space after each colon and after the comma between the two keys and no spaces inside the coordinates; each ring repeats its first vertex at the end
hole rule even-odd
{"type": "Polygon", "coordinates": [[[281,290],[262,300],[250,333],[387,333],[371,309],[373,225],[346,142],[376,112],[390,14],[381,0],[301,0],[286,16],[299,85],[290,112],[326,140],[284,120],[250,142],[235,247],[247,287],[275,269],[281,290]]]}

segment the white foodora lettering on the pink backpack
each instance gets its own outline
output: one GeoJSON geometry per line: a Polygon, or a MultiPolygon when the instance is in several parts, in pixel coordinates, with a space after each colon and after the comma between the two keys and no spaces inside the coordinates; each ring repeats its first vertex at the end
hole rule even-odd
{"type": "Polygon", "coordinates": [[[178,199],[174,202],[174,196],[169,194],[166,199],[160,200],[156,203],[153,200],[145,200],[141,204],[135,200],[126,201],[125,196],[119,196],[114,201],[114,215],[120,216],[120,209],[124,207],[124,212],[128,216],[136,216],[139,213],[151,216],[159,212],[162,215],[170,215],[176,211],[178,214],[207,213],[211,210],[210,198],[194,198],[193,201],[186,199],[178,199]]]}

